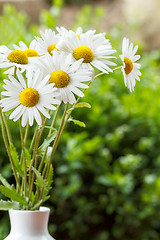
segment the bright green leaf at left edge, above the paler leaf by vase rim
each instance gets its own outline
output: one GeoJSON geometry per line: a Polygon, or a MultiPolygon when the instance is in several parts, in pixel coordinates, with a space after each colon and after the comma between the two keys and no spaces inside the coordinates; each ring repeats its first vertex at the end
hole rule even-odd
{"type": "Polygon", "coordinates": [[[26,199],[21,196],[18,192],[16,192],[16,190],[12,187],[11,189],[6,187],[6,186],[0,186],[0,192],[10,198],[12,201],[16,201],[21,205],[27,205],[27,201],[26,199]]]}

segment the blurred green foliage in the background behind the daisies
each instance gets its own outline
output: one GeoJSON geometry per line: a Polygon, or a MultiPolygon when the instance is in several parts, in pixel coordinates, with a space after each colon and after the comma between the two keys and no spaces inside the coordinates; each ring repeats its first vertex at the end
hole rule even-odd
{"type": "MultiPolygon", "coordinates": [[[[90,14],[88,6],[82,11],[90,14]]],[[[45,14],[42,12],[42,23],[51,27],[52,18],[45,14]]],[[[79,16],[83,19],[77,18],[74,28],[78,23],[85,28],[92,25],[82,12],[79,16]]],[[[52,17],[54,28],[58,15],[52,17]]],[[[1,18],[1,44],[19,40],[29,43],[38,34],[37,26],[27,30],[27,16],[10,5],[5,6],[1,18]],[[12,19],[16,19],[16,24],[11,27],[12,19]],[[2,31],[4,26],[8,26],[7,34],[2,31]],[[18,26],[22,32],[16,30],[18,26]]],[[[107,37],[118,49],[118,57],[122,26],[107,37]]],[[[142,80],[137,82],[135,92],[130,94],[125,88],[121,71],[101,76],[82,99],[92,108],[77,109],[73,114],[86,123],[86,128],[69,123],[63,134],[54,159],[54,186],[47,203],[52,211],[49,230],[57,240],[159,240],[160,51],[144,53],[140,47],[139,53],[142,80]]],[[[4,78],[2,72],[0,76],[4,78]]],[[[16,145],[20,145],[17,125],[12,121],[9,124],[16,145]]],[[[1,137],[1,146],[2,141],[1,137]]],[[[12,181],[3,147],[0,168],[12,181]]],[[[8,214],[1,213],[0,240],[7,235],[8,226],[8,214]]]]}

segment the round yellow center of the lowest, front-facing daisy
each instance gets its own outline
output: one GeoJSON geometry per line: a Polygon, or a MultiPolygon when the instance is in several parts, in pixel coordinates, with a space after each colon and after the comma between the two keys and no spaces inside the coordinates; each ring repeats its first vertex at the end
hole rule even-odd
{"type": "Polygon", "coordinates": [[[34,88],[25,88],[20,93],[19,100],[26,107],[34,107],[39,101],[39,93],[34,88]]]}

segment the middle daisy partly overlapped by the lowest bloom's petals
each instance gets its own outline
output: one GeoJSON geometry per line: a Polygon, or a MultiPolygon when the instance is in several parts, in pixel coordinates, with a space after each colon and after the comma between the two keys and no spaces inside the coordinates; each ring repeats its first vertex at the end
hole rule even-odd
{"type": "Polygon", "coordinates": [[[45,77],[49,74],[49,82],[54,83],[54,89],[59,94],[57,97],[65,104],[76,102],[74,94],[83,97],[84,94],[79,88],[88,88],[83,82],[91,80],[91,72],[88,69],[81,69],[83,59],[73,62],[72,55],[53,51],[53,56],[46,54],[46,58],[37,58],[34,65],[41,69],[45,77]]]}

